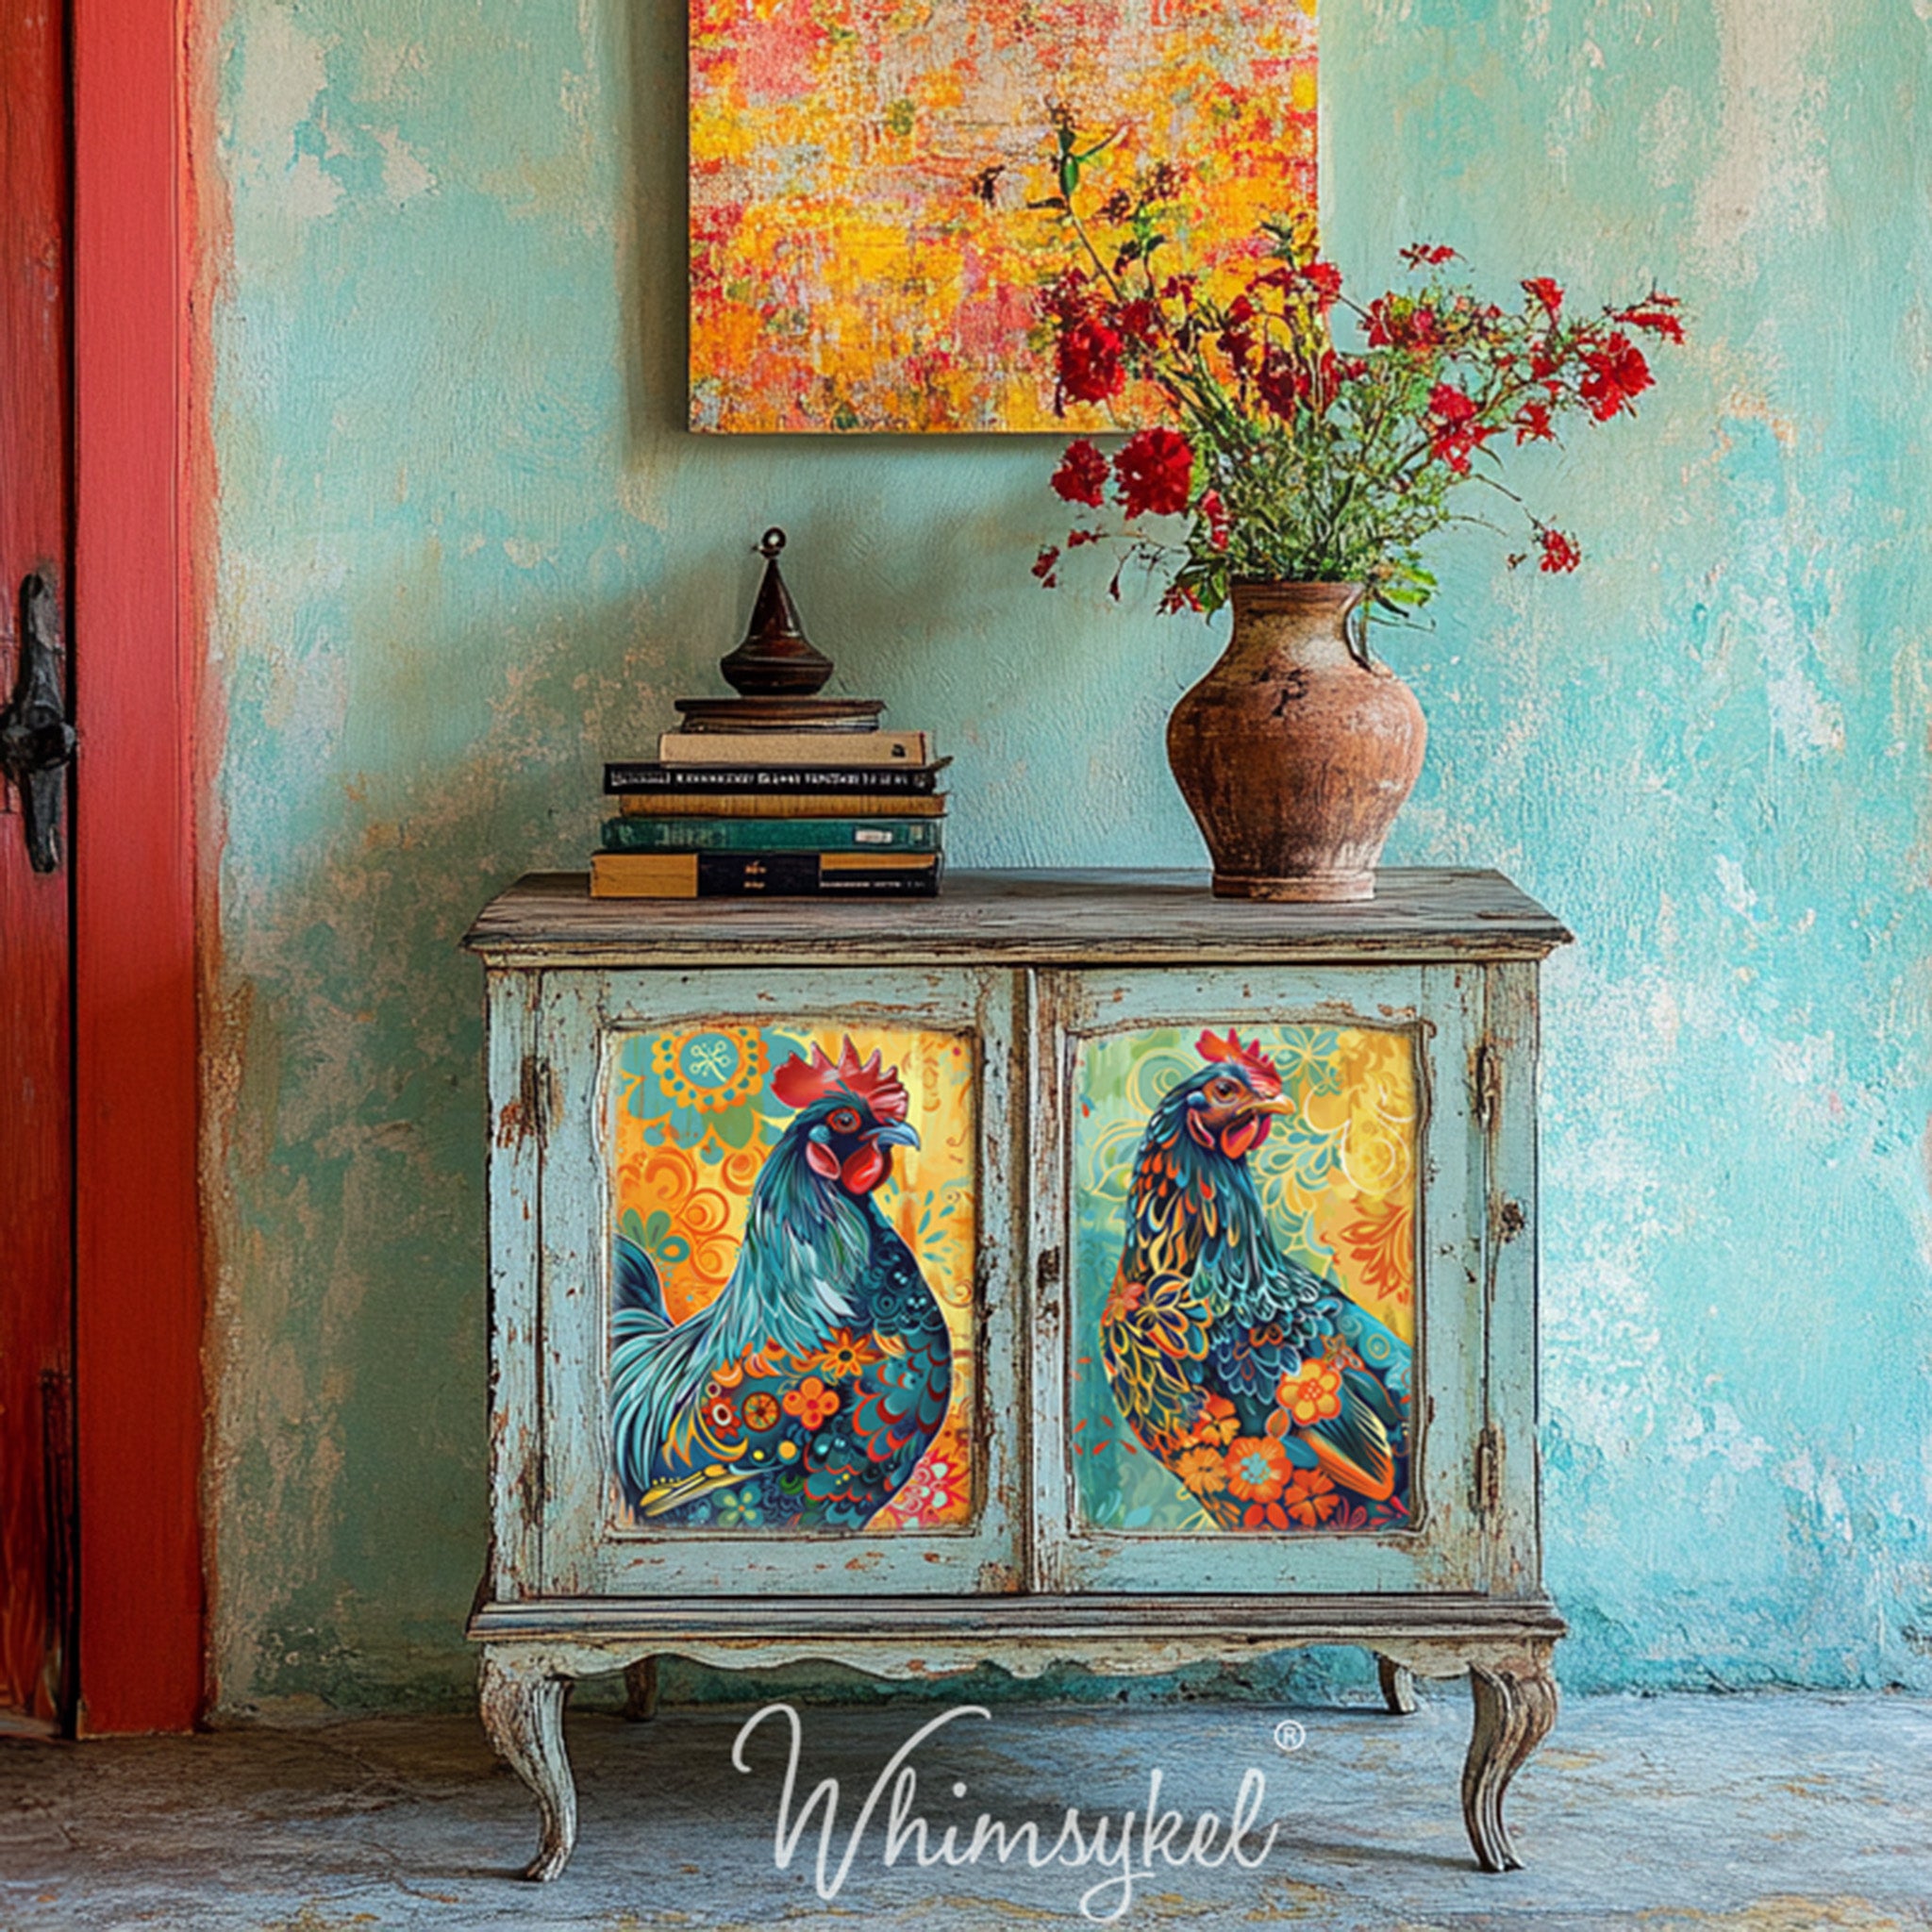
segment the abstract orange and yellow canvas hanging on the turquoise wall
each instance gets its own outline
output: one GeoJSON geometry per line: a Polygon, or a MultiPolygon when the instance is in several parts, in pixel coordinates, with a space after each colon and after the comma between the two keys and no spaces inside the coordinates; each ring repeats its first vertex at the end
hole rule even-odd
{"type": "Polygon", "coordinates": [[[1180,170],[1213,278],[1316,209],[1316,0],[692,0],[694,429],[1103,429],[1053,410],[1049,104],[1180,170]]]}

